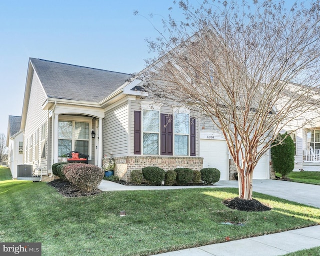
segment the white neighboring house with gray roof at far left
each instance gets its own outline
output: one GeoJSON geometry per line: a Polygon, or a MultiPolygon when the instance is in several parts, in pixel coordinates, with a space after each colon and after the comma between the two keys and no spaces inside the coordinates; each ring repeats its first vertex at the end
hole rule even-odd
{"type": "Polygon", "coordinates": [[[11,170],[13,179],[16,179],[17,165],[23,163],[23,132],[20,130],[20,125],[20,116],[9,116],[6,135],[6,146],[8,147],[7,165],[11,170]]]}

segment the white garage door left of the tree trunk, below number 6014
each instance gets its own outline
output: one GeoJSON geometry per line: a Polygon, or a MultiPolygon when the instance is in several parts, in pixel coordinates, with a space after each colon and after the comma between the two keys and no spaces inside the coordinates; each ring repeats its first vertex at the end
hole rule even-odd
{"type": "Polygon", "coordinates": [[[229,179],[229,155],[224,140],[200,139],[200,157],[203,157],[203,168],[217,168],[220,179],[229,179]]]}

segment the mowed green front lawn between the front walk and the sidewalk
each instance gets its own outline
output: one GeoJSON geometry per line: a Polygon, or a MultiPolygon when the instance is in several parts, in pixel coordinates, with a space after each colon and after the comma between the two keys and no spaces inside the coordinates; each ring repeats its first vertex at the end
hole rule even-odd
{"type": "Polygon", "coordinates": [[[0,241],[42,255],[149,255],[320,223],[320,209],[253,193],[266,212],[231,210],[236,188],[114,191],[65,198],[44,182],[0,181],[0,241]],[[126,216],[120,217],[120,210],[126,216]],[[241,222],[225,225],[221,222],[241,222]]]}

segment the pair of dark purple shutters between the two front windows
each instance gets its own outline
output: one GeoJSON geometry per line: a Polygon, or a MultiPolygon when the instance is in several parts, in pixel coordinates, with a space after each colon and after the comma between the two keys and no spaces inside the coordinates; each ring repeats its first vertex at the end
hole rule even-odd
{"type": "Polygon", "coordinates": [[[161,155],[173,155],[172,115],[160,114],[160,127],[161,155]]]}

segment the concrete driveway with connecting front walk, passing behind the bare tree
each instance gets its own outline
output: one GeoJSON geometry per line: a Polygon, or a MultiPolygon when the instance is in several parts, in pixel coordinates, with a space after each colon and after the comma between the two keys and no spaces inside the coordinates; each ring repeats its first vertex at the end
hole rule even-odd
{"type": "MultiPolygon", "coordinates": [[[[126,186],[111,181],[102,180],[98,188],[102,191],[119,191],[183,189],[195,187],[238,187],[238,182],[235,180],[220,180],[213,186],[126,186]]],[[[253,180],[253,191],[320,208],[319,185],[309,185],[272,179],[256,179],[253,180]]]]}

